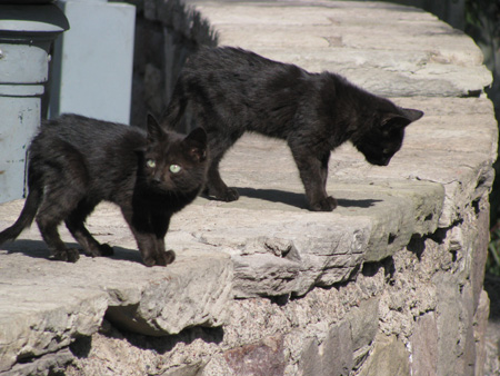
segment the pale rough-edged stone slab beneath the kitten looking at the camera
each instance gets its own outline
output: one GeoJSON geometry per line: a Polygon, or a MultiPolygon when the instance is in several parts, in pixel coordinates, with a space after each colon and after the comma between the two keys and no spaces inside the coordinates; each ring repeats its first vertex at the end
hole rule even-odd
{"type": "MultiPolygon", "coordinates": [[[[2,228],[17,216],[21,204],[0,207],[2,228]]],[[[20,240],[1,246],[0,370],[57,352],[78,336],[92,335],[106,313],[117,325],[153,335],[226,321],[227,303],[232,298],[228,256],[184,251],[178,253],[171,267],[147,268],[139,253],[130,249],[134,240],[118,208],[102,205],[90,220],[89,228],[93,226],[114,240],[113,258],[50,261],[34,228],[20,240]]]]}

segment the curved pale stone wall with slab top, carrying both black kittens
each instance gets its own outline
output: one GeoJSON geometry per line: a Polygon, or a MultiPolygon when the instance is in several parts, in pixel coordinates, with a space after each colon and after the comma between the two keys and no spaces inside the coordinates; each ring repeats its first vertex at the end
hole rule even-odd
{"type": "MultiPolygon", "coordinates": [[[[167,268],[138,263],[109,205],[88,225],[113,259],[56,265],[34,229],[2,246],[0,375],[483,375],[498,128],[473,42],[379,2],[139,9],[137,113],[159,115],[186,56],[218,42],[339,71],[426,116],[388,167],[351,146],[333,154],[332,214],[304,209],[283,142],[244,137],[221,165],[240,199],[199,198],[177,215],[167,268]]],[[[21,206],[0,206],[0,228],[21,206]]]]}

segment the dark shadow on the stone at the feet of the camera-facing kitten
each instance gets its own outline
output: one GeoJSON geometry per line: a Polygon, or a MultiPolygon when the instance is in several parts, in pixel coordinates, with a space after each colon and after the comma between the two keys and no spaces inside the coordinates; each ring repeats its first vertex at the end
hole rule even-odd
{"type": "MultiPolygon", "coordinates": [[[[68,248],[79,249],[80,257],[90,257],[83,253],[79,244],[77,243],[64,243],[64,244],[67,245],[68,248]]],[[[42,240],[19,239],[3,244],[1,246],[1,249],[7,250],[8,254],[24,254],[26,256],[32,258],[49,259],[50,256],[49,248],[42,240]]],[[[113,246],[113,250],[114,255],[107,258],[142,264],[141,255],[137,249],[113,246]]]]}

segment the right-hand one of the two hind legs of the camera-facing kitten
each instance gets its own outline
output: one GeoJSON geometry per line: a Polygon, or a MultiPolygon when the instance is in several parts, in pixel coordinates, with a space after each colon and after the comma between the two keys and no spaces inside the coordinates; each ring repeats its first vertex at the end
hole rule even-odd
{"type": "Polygon", "coordinates": [[[91,257],[112,256],[113,248],[107,244],[97,241],[84,226],[87,217],[92,212],[94,207],[94,202],[88,202],[87,200],[80,201],[78,207],[66,219],[66,227],[68,227],[71,235],[77,239],[87,255],[91,257]]]}

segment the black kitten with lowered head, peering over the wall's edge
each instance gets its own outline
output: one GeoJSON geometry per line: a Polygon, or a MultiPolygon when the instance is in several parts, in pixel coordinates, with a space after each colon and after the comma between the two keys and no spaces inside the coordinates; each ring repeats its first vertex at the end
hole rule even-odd
{"type": "Polygon", "coordinates": [[[176,127],[189,107],[209,137],[207,194],[238,199],[219,175],[224,152],[243,132],[287,140],[311,210],[337,207],[326,185],[330,151],[350,140],[373,165],[387,166],[401,148],[404,127],[423,112],[404,109],[344,78],[309,73],[236,48],[201,49],[189,57],[163,117],[176,127]]]}

